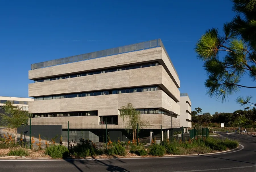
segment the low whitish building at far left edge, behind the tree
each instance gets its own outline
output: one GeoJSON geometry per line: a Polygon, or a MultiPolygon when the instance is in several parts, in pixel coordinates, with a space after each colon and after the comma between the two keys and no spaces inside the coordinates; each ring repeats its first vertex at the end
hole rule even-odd
{"type": "Polygon", "coordinates": [[[0,96],[0,108],[2,108],[4,103],[7,101],[11,102],[14,106],[22,107],[23,110],[28,111],[28,102],[34,101],[34,99],[33,98],[0,96]]]}

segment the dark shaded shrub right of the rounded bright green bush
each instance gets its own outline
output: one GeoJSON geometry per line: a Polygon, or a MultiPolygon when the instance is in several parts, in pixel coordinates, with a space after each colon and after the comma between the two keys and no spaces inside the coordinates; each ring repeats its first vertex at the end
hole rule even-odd
{"type": "Polygon", "coordinates": [[[70,150],[70,153],[77,158],[86,158],[97,155],[98,151],[92,141],[80,139],[80,142],[70,150]]]}

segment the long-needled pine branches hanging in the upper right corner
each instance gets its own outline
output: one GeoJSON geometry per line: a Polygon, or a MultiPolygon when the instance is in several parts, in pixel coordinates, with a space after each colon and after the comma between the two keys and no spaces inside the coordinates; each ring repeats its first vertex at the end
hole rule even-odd
{"type": "Polygon", "coordinates": [[[244,75],[256,81],[256,1],[232,1],[238,15],[224,24],[223,34],[217,28],[209,29],[195,47],[208,74],[207,94],[222,102],[242,87],[256,88],[241,84],[244,75]]]}

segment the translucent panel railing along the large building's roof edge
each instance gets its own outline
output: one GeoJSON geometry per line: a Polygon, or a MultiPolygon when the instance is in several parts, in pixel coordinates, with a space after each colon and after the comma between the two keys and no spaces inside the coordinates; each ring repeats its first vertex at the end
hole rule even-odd
{"type": "MultiPolygon", "coordinates": [[[[41,62],[41,63],[34,63],[31,65],[31,70],[39,69],[39,68],[46,68],[46,67],[56,66],[56,65],[63,65],[63,64],[67,64],[67,63],[74,63],[74,62],[78,62],[78,61],[90,60],[90,59],[95,59],[95,58],[107,57],[107,56],[117,55],[117,54],[122,54],[122,53],[129,53],[129,52],[133,52],[133,51],[146,50],[146,49],[156,48],[156,47],[162,47],[164,49],[166,55],[168,56],[168,59],[170,60],[170,62],[172,64],[172,61],[171,61],[167,51],[164,48],[162,40],[155,39],[155,40],[140,42],[137,44],[131,44],[131,45],[121,46],[121,47],[117,47],[117,48],[111,48],[108,50],[95,51],[92,53],[80,54],[80,55],[65,57],[65,58],[61,58],[61,59],[45,61],[45,62],[41,62]]],[[[172,67],[174,68],[173,64],[172,64],[172,67]]],[[[174,68],[174,70],[175,70],[175,68],[174,68]]],[[[176,72],[176,70],[175,70],[175,72],[176,72]]],[[[177,72],[176,72],[176,74],[177,74],[177,72]]]]}

